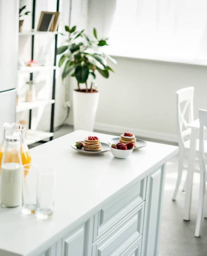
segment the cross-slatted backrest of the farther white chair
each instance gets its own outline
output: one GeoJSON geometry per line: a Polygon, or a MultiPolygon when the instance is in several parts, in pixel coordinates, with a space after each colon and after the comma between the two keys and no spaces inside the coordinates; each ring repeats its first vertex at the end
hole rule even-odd
{"type": "Polygon", "coordinates": [[[184,147],[185,137],[191,133],[187,124],[193,122],[194,87],[187,87],[176,92],[177,126],[179,146],[184,147]]]}

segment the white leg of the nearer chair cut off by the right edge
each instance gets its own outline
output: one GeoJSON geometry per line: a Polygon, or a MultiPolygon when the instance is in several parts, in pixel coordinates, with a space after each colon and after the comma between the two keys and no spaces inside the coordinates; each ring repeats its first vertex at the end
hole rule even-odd
{"type": "Polygon", "coordinates": [[[195,227],[195,236],[199,237],[201,235],[201,226],[203,223],[203,212],[204,212],[204,202],[205,202],[205,181],[200,175],[200,190],[199,190],[199,203],[198,203],[198,213],[197,221],[195,227]]]}

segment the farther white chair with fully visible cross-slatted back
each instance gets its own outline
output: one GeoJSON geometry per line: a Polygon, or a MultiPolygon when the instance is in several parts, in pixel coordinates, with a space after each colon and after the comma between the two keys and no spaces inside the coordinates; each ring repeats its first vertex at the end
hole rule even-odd
{"type": "Polygon", "coordinates": [[[191,133],[191,129],[187,128],[187,124],[193,122],[193,97],[194,87],[187,87],[176,92],[179,164],[176,188],[172,197],[173,201],[176,200],[176,196],[178,194],[183,169],[187,169],[187,167],[184,166],[184,157],[188,154],[190,146],[189,135],[191,133]]]}

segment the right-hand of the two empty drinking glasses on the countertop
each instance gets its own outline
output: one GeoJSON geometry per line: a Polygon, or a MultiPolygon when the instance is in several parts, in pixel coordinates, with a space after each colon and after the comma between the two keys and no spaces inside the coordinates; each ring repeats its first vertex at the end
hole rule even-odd
{"type": "Polygon", "coordinates": [[[56,171],[44,168],[38,172],[36,217],[48,219],[53,215],[56,171]]]}

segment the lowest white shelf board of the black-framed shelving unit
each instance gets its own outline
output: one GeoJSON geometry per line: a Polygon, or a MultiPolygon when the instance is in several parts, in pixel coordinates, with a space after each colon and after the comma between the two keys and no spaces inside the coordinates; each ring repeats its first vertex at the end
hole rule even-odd
{"type": "Polygon", "coordinates": [[[35,142],[38,142],[40,140],[45,140],[47,138],[52,137],[54,134],[53,132],[43,132],[38,130],[28,130],[27,136],[25,138],[26,144],[33,144],[35,142]]]}

